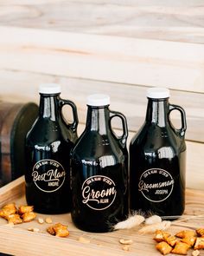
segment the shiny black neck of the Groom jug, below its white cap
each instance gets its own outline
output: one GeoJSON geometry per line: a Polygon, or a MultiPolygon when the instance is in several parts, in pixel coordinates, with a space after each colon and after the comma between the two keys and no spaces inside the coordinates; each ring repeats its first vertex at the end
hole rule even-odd
{"type": "Polygon", "coordinates": [[[106,135],[109,130],[108,106],[88,106],[86,117],[86,129],[96,131],[99,135],[106,135]]]}

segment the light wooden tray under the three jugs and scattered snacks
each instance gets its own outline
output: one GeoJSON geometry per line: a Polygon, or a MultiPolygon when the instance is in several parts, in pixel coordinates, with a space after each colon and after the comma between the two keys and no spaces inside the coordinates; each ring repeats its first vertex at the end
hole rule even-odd
{"type": "MultiPolygon", "coordinates": [[[[195,229],[204,226],[203,199],[204,191],[187,190],[185,214],[179,222],[177,220],[172,221],[169,232],[173,234],[183,229],[195,229]]],[[[23,177],[0,188],[0,207],[10,202],[15,202],[16,206],[26,205],[23,177]]],[[[39,224],[37,221],[39,217],[46,218],[48,215],[37,213],[36,220],[14,227],[6,225],[6,220],[0,218],[0,252],[20,256],[162,255],[155,249],[155,241],[152,240],[153,234],[141,235],[137,233],[138,227],[111,233],[86,233],[73,226],[69,213],[51,215],[53,223],[61,222],[67,225],[70,232],[69,237],[58,238],[46,232],[46,228],[51,224],[39,224]],[[29,227],[37,227],[41,232],[30,232],[29,227]],[[81,236],[90,240],[90,243],[81,243],[79,241],[81,236]],[[118,242],[121,238],[133,240],[130,251],[125,252],[122,249],[122,245],[118,242]]],[[[188,255],[191,253],[192,250],[188,252],[188,255]]],[[[201,255],[204,255],[204,250],[201,251],[201,255]]]]}

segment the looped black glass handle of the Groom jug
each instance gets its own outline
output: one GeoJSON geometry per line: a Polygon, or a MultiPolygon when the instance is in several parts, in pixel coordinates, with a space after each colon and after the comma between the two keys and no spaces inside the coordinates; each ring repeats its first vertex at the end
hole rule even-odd
{"type": "Polygon", "coordinates": [[[112,118],[113,117],[118,117],[121,119],[122,121],[122,126],[123,126],[123,135],[121,136],[118,136],[116,135],[113,130],[112,130],[112,134],[116,137],[116,139],[119,141],[120,145],[122,148],[125,148],[126,147],[126,141],[127,141],[127,137],[128,137],[128,128],[127,128],[127,121],[126,121],[126,118],[125,116],[120,113],[120,112],[116,112],[116,111],[111,111],[110,110],[110,127],[111,126],[111,121],[112,121],[112,118]]]}

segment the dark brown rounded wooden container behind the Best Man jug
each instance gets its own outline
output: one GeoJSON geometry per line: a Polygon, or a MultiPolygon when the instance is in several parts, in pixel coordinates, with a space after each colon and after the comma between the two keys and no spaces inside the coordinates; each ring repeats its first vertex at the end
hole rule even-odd
{"type": "Polygon", "coordinates": [[[0,102],[0,187],[25,172],[25,136],[38,115],[34,102],[0,102]]]}

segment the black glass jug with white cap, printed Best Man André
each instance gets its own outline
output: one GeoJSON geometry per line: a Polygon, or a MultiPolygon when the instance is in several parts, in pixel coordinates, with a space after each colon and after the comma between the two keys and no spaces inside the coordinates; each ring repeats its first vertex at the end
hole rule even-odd
{"type": "Polygon", "coordinates": [[[58,84],[39,88],[39,116],[26,136],[26,200],[38,213],[70,212],[70,151],[77,139],[78,115],[73,102],[60,97],[58,84]],[[67,123],[62,108],[73,110],[67,123]]]}

